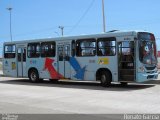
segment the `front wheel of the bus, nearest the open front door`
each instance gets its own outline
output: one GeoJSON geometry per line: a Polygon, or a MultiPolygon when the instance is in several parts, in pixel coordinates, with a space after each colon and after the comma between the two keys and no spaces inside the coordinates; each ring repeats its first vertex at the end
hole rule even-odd
{"type": "Polygon", "coordinates": [[[111,85],[111,74],[109,72],[102,71],[100,80],[103,87],[109,87],[111,85]]]}

